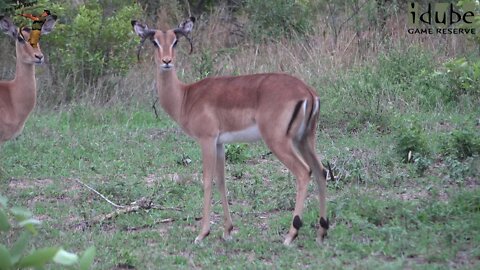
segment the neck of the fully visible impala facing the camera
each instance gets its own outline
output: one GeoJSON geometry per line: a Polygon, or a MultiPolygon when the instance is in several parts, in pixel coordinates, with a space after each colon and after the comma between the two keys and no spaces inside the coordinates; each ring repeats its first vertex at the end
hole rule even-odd
{"type": "Polygon", "coordinates": [[[157,91],[160,105],[175,122],[180,122],[184,85],[178,80],[174,68],[170,70],[157,70],[157,91]]]}

